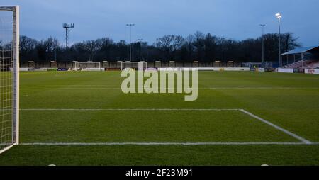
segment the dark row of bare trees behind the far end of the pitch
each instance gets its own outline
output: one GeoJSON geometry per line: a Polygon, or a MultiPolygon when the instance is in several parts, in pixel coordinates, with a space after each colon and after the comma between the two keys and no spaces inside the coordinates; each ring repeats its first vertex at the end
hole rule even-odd
{"type": "MultiPolygon", "coordinates": [[[[281,52],[299,47],[298,38],[293,33],[281,34],[281,52]]],[[[147,62],[261,62],[262,39],[264,39],[264,60],[278,61],[279,35],[265,34],[259,38],[233,40],[220,38],[211,33],[196,32],[193,35],[164,35],[157,38],[155,43],[132,43],[132,60],[147,62]]],[[[93,61],[116,62],[129,60],[129,43],[125,40],[118,42],[111,38],[99,38],[75,43],[69,48],[63,47],[57,38],[35,40],[27,36],[20,38],[21,62],[93,61]]]]}

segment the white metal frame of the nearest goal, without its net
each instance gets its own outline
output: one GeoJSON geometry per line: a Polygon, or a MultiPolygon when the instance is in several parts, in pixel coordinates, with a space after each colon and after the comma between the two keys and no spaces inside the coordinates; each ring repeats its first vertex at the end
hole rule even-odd
{"type": "Polygon", "coordinates": [[[0,154],[9,150],[13,145],[19,144],[19,37],[20,37],[20,19],[19,6],[0,6],[0,11],[13,12],[13,102],[12,102],[12,141],[11,145],[0,150],[0,154]]]}

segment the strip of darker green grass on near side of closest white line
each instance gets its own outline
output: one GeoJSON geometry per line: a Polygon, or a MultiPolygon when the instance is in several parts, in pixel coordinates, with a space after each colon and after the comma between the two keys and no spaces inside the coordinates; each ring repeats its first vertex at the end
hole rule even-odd
{"type": "Polygon", "coordinates": [[[319,146],[19,146],[1,165],[317,165],[319,146]]]}

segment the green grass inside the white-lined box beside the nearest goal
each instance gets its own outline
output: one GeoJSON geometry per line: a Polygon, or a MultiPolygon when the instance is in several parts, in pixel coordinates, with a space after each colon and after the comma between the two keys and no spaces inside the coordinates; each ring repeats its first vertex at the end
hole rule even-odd
{"type": "Polygon", "coordinates": [[[296,142],[238,111],[27,111],[23,142],[296,142]],[[36,128],[35,128],[36,127],[36,128]]]}

